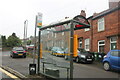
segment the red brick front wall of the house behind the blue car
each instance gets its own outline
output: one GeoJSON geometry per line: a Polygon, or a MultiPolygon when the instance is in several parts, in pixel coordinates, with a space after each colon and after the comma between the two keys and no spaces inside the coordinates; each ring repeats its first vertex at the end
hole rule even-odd
{"type": "MultiPolygon", "coordinates": [[[[105,40],[105,53],[110,50],[110,38],[107,36],[113,36],[118,34],[118,11],[112,12],[108,15],[102,16],[105,19],[105,30],[98,32],[98,19],[93,20],[93,40],[92,47],[94,52],[98,51],[98,41],[105,40]]],[[[102,18],[101,17],[101,18],[102,18]]]]}

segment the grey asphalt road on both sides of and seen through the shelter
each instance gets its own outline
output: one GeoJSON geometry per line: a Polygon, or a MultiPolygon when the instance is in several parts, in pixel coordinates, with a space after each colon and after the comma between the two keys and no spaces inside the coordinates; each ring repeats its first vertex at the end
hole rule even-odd
{"type": "MultiPolygon", "coordinates": [[[[43,54],[44,60],[51,62],[53,64],[62,66],[62,67],[69,67],[69,61],[64,60],[64,58],[52,56],[48,53],[43,54]]],[[[37,61],[36,61],[37,62],[37,61]]],[[[2,65],[8,66],[18,72],[28,75],[29,74],[29,64],[32,63],[31,58],[10,58],[9,51],[2,53],[2,65]]],[[[42,66],[42,65],[41,65],[42,66]]],[[[53,68],[54,65],[46,64],[46,68],[51,67],[53,68]]],[[[60,77],[66,78],[67,73],[66,69],[55,67],[60,70],[60,77]]],[[[42,71],[42,67],[41,67],[42,71]]],[[[74,78],[119,78],[120,73],[117,71],[104,71],[100,64],[81,64],[81,63],[74,63],[74,78]]]]}

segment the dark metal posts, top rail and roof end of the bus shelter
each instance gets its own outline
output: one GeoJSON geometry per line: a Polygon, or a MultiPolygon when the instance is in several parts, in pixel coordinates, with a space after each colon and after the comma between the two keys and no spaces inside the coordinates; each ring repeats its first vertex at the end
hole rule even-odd
{"type": "Polygon", "coordinates": [[[73,80],[73,49],[74,49],[74,30],[78,30],[78,29],[84,29],[84,28],[90,28],[89,22],[88,20],[81,16],[75,16],[73,19],[71,20],[67,20],[67,21],[63,21],[63,22],[59,22],[53,25],[48,25],[45,27],[41,27],[39,28],[39,38],[38,38],[38,66],[37,66],[37,71],[38,74],[40,73],[40,43],[41,43],[41,31],[45,30],[47,28],[52,28],[52,27],[56,27],[59,25],[63,25],[63,24],[68,24],[70,23],[70,80],[73,80]],[[83,19],[83,20],[82,20],[83,19]],[[74,23],[77,23],[77,27],[74,26],[74,23]],[[75,28],[74,28],[75,27],[75,28]]]}

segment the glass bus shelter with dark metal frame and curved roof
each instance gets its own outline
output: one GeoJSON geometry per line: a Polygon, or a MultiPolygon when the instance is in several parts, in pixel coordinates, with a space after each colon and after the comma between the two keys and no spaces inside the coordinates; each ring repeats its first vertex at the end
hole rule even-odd
{"type": "Polygon", "coordinates": [[[40,28],[38,73],[53,78],[73,79],[73,57],[77,56],[78,48],[74,31],[84,28],[90,28],[90,25],[81,15],[40,28]]]}

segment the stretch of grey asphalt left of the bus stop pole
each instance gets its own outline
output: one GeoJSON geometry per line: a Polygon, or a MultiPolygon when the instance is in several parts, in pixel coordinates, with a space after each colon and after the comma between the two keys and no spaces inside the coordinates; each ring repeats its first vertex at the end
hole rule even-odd
{"type": "Polygon", "coordinates": [[[10,51],[2,52],[2,65],[10,67],[23,75],[29,74],[29,64],[32,63],[31,58],[11,58],[10,51]]]}

